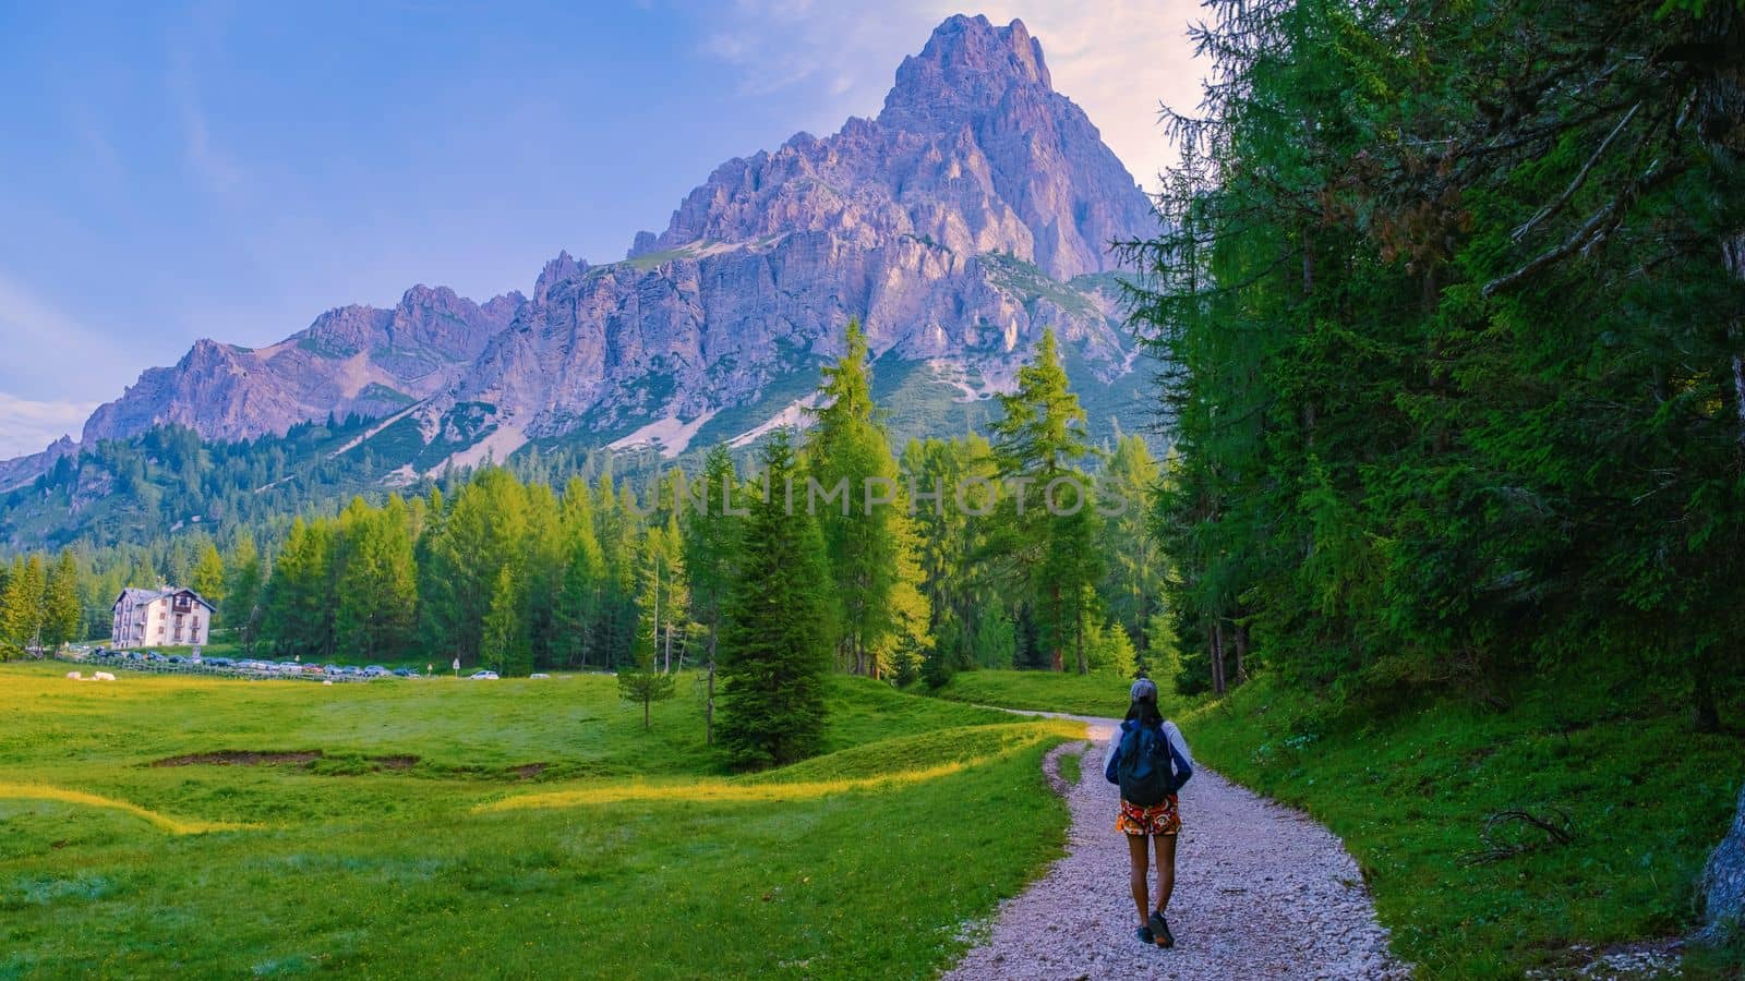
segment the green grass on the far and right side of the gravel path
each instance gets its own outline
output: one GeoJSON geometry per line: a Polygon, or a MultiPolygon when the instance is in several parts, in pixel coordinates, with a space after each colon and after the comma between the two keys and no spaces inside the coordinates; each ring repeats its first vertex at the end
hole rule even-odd
{"type": "MultiPolygon", "coordinates": [[[[1094,683],[1049,672],[965,672],[944,693],[1119,714],[1098,707],[1094,683]]],[[[1265,677],[1166,710],[1199,759],[1344,838],[1396,953],[1433,978],[1562,972],[1590,957],[1577,944],[1689,932],[1696,876],[1745,780],[1736,730],[1694,733],[1682,689],[1626,670],[1520,679],[1506,710],[1461,700],[1335,710],[1265,677]],[[1513,810],[1558,826],[1567,815],[1570,840],[1506,820],[1487,845],[1487,819],[1513,810]],[[1492,847],[1525,850],[1485,857],[1492,847]]],[[[1701,955],[1686,971],[1738,976],[1740,964],[1701,955]]]]}

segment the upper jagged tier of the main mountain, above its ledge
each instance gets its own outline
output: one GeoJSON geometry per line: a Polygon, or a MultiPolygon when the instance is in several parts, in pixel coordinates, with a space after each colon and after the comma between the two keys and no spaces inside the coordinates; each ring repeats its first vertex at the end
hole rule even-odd
{"type": "Polygon", "coordinates": [[[1010,251],[1056,279],[1115,267],[1108,244],[1153,230],[1133,175],[1049,86],[1023,21],[956,16],[897,70],[876,120],[722,164],[630,257],[794,230],[848,244],[927,237],[1010,251]]]}

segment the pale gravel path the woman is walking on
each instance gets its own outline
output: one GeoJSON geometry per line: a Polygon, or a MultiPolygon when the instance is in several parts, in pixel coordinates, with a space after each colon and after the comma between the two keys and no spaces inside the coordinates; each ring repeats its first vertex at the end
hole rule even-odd
{"type": "MultiPolygon", "coordinates": [[[[1078,716],[1066,716],[1078,717],[1078,716]]],[[[1195,765],[1181,789],[1181,843],[1169,901],[1174,950],[1141,944],[1127,892],[1127,843],[1115,833],[1119,792],[1103,779],[1113,719],[1084,719],[1091,742],[1044,761],[1066,796],[1066,857],[1007,901],[988,939],[946,978],[1408,978],[1358,864],[1326,827],[1195,765]],[[1068,787],[1059,756],[1084,752],[1068,787]]],[[[1188,733],[1192,747],[1192,733],[1188,733]]],[[[1157,888],[1155,869],[1150,883],[1157,888]]]]}

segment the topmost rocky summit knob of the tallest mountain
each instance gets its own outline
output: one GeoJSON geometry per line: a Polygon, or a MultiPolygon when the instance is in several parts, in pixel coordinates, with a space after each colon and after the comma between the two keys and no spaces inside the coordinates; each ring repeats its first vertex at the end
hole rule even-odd
{"type": "Polygon", "coordinates": [[[993,108],[1014,87],[1054,91],[1042,45],[1024,21],[996,28],[979,14],[956,14],[920,54],[902,59],[879,122],[955,122],[993,108]]]}

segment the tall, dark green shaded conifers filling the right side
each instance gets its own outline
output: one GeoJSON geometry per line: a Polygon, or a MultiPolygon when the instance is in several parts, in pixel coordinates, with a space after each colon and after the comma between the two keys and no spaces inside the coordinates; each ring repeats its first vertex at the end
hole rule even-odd
{"type": "Polygon", "coordinates": [[[1190,683],[1501,698],[1628,658],[1712,726],[1745,651],[1745,14],[1213,7],[1138,250],[1190,683]]]}

